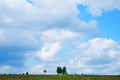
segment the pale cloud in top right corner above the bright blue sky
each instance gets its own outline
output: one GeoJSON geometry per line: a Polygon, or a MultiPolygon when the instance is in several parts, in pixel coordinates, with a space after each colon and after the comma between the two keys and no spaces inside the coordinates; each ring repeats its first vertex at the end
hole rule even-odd
{"type": "Polygon", "coordinates": [[[78,0],[78,3],[87,6],[93,16],[100,16],[104,11],[120,10],[120,0],[78,0]]]}

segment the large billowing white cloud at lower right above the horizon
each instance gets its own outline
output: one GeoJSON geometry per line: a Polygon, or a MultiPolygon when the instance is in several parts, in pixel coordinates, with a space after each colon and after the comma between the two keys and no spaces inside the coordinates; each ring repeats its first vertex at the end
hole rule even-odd
{"type": "Polygon", "coordinates": [[[80,43],[79,57],[70,61],[71,68],[79,69],[78,73],[118,74],[117,70],[120,66],[120,48],[118,46],[119,43],[106,38],[95,38],[80,43]]]}

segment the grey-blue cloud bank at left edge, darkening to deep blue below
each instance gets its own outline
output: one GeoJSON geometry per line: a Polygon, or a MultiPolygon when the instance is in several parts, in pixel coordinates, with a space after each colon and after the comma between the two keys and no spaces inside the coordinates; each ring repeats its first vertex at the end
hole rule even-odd
{"type": "Polygon", "coordinates": [[[26,53],[38,50],[41,46],[40,33],[20,30],[0,30],[0,63],[1,65],[24,66],[26,53]]]}

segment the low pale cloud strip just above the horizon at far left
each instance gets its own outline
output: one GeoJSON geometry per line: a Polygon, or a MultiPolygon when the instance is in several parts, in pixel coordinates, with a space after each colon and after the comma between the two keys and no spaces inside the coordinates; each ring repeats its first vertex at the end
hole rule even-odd
{"type": "Polygon", "coordinates": [[[13,67],[10,65],[3,65],[0,66],[0,73],[4,74],[22,74],[22,73],[30,73],[30,74],[41,74],[43,73],[44,70],[44,66],[43,65],[34,65],[32,67],[13,67]]]}

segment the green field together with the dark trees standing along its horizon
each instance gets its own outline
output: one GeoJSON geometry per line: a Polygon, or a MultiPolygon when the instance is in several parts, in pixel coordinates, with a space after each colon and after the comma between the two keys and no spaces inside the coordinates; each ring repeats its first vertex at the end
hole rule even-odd
{"type": "Polygon", "coordinates": [[[120,75],[69,75],[67,69],[57,67],[57,75],[47,75],[47,70],[43,70],[44,75],[31,75],[28,72],[23,74],[0,74],[0,80],[120,80],[120,75]]]}

